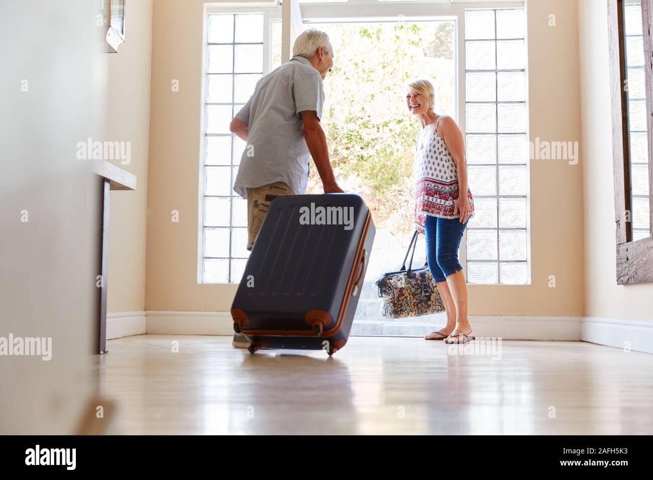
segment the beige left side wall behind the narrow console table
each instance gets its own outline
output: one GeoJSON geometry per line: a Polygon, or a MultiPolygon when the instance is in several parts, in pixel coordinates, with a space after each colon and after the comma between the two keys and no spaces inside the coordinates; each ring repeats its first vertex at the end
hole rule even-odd
{"type": "Polygon", "coordinates": [[[104,56],[109,111],[103,140],[131,142],[131,163],[112,163],[136,175],[136,191],[111,194],[108,312],[144,310],[145,304],[152,0],[129,2],[125,25],[127,41],[118,54],[104,56]]]}

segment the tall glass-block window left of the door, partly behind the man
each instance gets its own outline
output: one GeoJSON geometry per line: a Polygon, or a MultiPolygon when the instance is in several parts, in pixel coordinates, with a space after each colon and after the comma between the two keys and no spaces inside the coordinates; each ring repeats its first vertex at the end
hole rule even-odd
{"type": "Polygon", "coordinates": [[[263,76],[264,14],[208,14],[202,151],[202,282],[238,283],[247,251],[247,202],[234,192],[245,142],[229,123],[263,76]]]}

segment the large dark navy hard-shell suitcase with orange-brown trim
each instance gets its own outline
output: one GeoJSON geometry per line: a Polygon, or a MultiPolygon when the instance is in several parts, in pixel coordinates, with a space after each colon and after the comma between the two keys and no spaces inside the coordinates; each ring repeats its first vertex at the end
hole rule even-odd
{"type": "Polygon", "coordinates": [[[342,349],[374,233],[358,195],[273,200],[231,306],[234,331],[245,334],[249,352],[323,349],[333,355],[342,349]]]}

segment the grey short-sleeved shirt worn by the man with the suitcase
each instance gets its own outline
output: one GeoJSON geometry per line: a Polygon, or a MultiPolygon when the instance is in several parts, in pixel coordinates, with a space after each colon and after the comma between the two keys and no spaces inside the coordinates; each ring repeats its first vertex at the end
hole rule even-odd
{"type": "Polygon", "coordinates": [[[234,190],[284,182],[297,195],[306,193],[311,154],[304,140],[300,112],[315,110],[322,118],[322,78],[308,59],[293,57],[256,84],[236,118],[249,125],[234,190]]]}

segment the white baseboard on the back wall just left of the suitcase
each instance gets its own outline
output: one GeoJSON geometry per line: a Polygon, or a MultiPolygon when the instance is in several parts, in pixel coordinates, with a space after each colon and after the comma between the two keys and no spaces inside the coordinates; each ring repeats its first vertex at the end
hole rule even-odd
{"type": "Polygon", "coordinates": [[[148,333],[178,335],[233,335],[229,312],[147,312],[148,333]]]}

